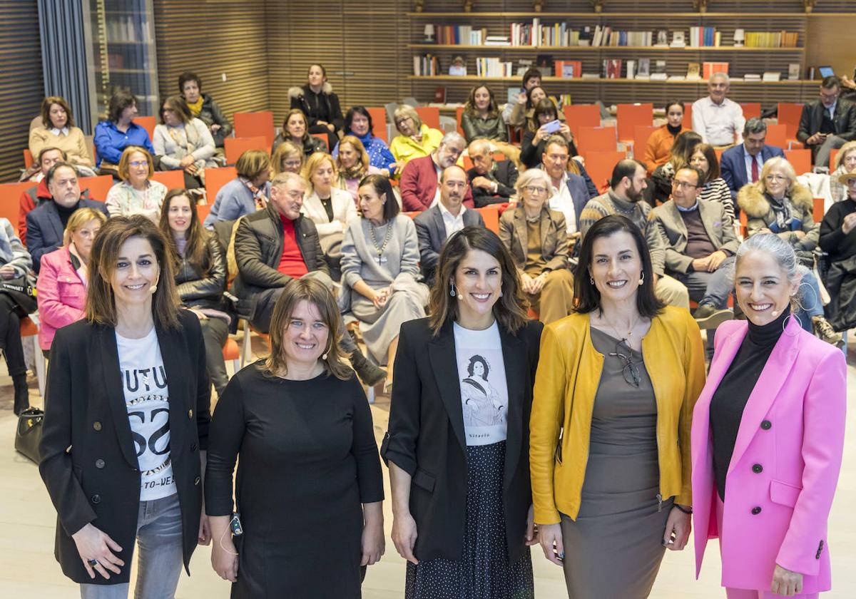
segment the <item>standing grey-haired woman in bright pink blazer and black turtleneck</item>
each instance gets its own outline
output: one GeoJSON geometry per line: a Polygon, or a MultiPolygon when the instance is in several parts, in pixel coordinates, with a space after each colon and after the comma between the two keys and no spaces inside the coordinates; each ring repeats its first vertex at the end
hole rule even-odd
{"type": "MultiPolygon", "coordinates": [[[[841,469],[847,403],[840,350],[800,328],[800,267],[774,234],[737,252],[746,321],[716,331],[693,412],[696,577],[719,537],[728,599],[817,597],[829,590],[827,519],[841,469]]],[[[805,287],[805,286],[804,286],[805,287]]]]}

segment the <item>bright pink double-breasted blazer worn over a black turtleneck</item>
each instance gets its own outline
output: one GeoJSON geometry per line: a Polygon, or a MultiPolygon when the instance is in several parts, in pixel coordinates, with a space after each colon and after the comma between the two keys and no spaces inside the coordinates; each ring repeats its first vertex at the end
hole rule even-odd
{"type": "Polygon", "coordinates": [[[723,586],[770,590],[779,564],[803,574],[804,593],[829,590],[826,527],[844,446],[847,364],[841,350],[794,318],[746,402],[716,530],[710,398],[747,329],[734,320],[716,331],[710,375],[693,411],[696,578],[707,540],[720,537],[723,586]]]}

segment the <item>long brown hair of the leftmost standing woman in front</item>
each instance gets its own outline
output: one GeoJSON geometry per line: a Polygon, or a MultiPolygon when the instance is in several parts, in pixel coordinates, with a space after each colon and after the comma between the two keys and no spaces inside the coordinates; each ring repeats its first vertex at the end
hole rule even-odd
{"type": "Polygon", "coordinates": [[[158,290],[152,297],[152,316],[162,329],[177,329],[181,302],[175,290],[172,260],[167,241],[158,226],[141,214],[113,216],[95,236],[89,254],[89,286],[86,290],[86,320],[90,323],[116,326],[116,298],[113,294],[113,273],[122,245],[132,237],[149,242],[160,267],[158,290]]]}

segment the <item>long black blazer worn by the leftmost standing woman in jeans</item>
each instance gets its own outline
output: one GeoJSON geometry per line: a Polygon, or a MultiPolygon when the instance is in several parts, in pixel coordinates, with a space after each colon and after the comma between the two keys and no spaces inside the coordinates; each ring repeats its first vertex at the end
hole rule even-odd
{"type": "MultiPolygon", "coordinates": [[[[184,566],[199,535],[199,452],[208,443],[210,383],[199,319],[182,310],[179,329],[158,327],[169,388],[169,455],[178,500],[184,566]]],[[[116,329],[86,320],[59,329],[51,345],[39,471],[56,507],[56,560],[75,583],[127,583],[140,504],[140,470],[122,390],[116,329]],[[89,578],[71,538],[92,523],[125,561],[110,580],[89,578]]],[[[187,572],[190,573],[189,571],[187,572]]]]}

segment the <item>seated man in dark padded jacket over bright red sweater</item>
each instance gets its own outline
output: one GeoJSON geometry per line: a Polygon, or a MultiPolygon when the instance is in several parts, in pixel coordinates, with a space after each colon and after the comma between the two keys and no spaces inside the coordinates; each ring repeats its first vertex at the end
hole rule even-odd
{"type": "MultiPolygon", "coordinates": [[[[306,181],[300,175],[276,175],[270,182],[270,203],[241,218],[235,232],[238,276],[233,293],[238,296],[239,310],[247,313],[253,329],[262,333],[270,330],[273,307],[287,282],[311,276],[333,289],[318,230],[300,213],[304,193],[306,181]]],[[[375,385],[386,377],[360,352],[351,335],[342,335],[340,347],[351,355],[351,364],[363,383],[375,385]]]]}

